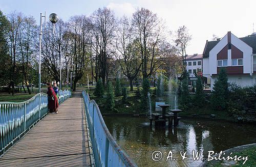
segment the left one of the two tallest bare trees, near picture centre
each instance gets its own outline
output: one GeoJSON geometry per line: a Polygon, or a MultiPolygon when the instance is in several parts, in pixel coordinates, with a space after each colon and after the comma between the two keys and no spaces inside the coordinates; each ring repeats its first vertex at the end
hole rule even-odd
{"type": "Polygon", "coordinates": [[[114,12],[107,8],[96,10],[92,14],[91,20],[92,37],[90,39],[95,53],[94,58],[91,58],[91,60],[95,61],[95,70],[92,70],[92,75],[96,81],[101,77],[102,82],[105,84],[106,74],[108,73],[108,60],[113,53],[111,47],[116,35],[117,21],[114,12]]]}

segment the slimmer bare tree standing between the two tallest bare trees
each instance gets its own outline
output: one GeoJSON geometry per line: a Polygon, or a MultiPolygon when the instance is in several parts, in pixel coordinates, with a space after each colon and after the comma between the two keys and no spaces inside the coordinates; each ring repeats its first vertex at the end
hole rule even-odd
{"type": "Polygon", "coordinates": [[[140,71],[142,62],[139,50],[136,47],[129,19],[125,16],[122,17],[119,25],[120,27],[116,42],[118,53],[115,55],[123,74],[130,81],[131,91],[133,91],[133,80],[140,71]]]}

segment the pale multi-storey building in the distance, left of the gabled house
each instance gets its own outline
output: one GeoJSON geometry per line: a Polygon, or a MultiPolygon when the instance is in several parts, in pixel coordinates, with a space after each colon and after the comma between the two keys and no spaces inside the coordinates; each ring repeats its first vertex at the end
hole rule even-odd
{"type": "Polygon", "coordinates": [[[202,71],[202,61],[203,54],[186,55],[185,64],[189,74],[188,85],[196,85],[197,77],[195,74],[197,74],[199,70],[202,71]]]}

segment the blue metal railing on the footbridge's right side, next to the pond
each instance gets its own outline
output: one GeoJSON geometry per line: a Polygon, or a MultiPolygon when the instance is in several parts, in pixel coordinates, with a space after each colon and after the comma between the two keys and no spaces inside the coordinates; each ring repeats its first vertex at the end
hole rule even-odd
{"type": "Polygon", "coordinates": [[[90,137],[93,147],[95,166],[137,166],[117,145],[101,116],[99,107],[90,100],[88,93],[82,92],[90,137]]]}

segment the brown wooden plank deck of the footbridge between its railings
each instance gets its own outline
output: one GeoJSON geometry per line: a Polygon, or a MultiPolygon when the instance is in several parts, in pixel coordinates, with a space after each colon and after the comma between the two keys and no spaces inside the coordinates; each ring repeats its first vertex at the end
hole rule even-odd
{"type": "Polygon", "coordinates": [[[75,96],[11,147],[0,166],[91,166],[81,93],[75,96]]]}

